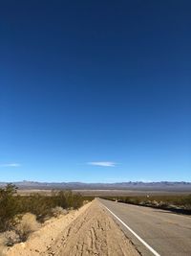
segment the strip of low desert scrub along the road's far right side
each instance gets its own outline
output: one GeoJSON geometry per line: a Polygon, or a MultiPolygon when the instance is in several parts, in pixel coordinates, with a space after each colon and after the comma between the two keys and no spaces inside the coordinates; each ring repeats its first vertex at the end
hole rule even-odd
{"type": "Polygon", "coordinates": [[[191,195],[181,196],[135,196],[135,197],[103,197],[118,202],[168,209],[184,214],[191,214],[191,195]]]}

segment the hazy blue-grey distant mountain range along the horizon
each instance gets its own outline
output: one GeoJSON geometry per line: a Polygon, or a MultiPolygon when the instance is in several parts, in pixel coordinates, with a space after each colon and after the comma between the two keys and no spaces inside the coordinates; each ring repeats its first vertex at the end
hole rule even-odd
{"type": "MultiPolygon", "coordinates": [[[[164,191],[190,191],[191,182],[118,182],[118,183],[83,183],[83,182],[35,182],[18,181],[12,182],[19,189],[71,189],[71,190],[164,190],[164,191]]],[[[0,182],[0,187],[6,186],[7,182],[0,182]]]]}

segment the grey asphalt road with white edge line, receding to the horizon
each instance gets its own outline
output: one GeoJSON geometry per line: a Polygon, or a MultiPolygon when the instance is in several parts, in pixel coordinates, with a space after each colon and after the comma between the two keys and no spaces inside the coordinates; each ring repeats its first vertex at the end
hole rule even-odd
{"type": "MultiPolygon", "coordinates": [[[[190,216],[100,198],[98,200],[159,255],[191,256],[190,216]]],[[[136,245],[142,255],[155,255],[136,238],[135,234],[118,221],[111,212],[106,208],[105,211],[117,221],[126,236],[136,245]]]]}

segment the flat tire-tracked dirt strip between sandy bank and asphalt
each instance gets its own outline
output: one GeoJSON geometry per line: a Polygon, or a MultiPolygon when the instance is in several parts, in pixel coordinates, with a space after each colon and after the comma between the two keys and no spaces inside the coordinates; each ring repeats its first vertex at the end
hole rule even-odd
{"type": "Polygon", "coordinates": [[[99,202],[92,205],[63,231],[49,251],[54,256],[138,256],[138,251],[105,212],[99,202]],[[68,232],[70,228],[70,232],[68,232]]]}

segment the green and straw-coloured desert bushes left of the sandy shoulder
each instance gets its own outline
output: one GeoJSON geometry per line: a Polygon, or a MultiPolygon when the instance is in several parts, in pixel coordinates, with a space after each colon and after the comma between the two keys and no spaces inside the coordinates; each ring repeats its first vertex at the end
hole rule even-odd
{"type": "Polygon", "coordinates": [[[53,191],[51,196],[33,194],[19,196],[13,184],[0,189],[0,232],[5,232],[6,244],[25,242],[40,222],[50,217],[78,209],[84,200],[72,191],[53,191]]]}

